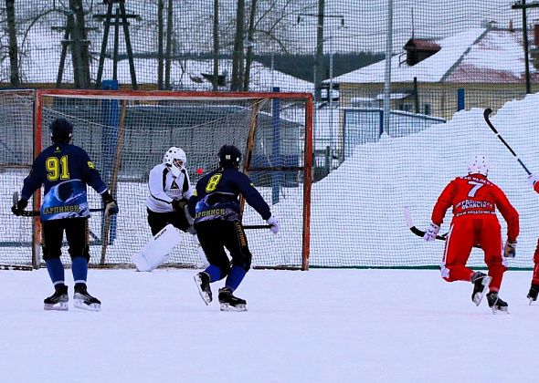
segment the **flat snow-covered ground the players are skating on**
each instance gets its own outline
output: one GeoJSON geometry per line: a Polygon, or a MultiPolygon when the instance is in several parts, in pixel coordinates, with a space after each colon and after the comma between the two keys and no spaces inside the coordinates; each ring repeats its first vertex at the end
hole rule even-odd
{"type": "Polygon", "coordinates": [[[432,270],[253,270],[237,291],[245,313],[204,305],[194,273],[90,270],[94,313],[44,311],[46,270],[1,272],[0,380],[536,381],[531,272],[505,274],[510,315],[497,316],[432,270]]]}

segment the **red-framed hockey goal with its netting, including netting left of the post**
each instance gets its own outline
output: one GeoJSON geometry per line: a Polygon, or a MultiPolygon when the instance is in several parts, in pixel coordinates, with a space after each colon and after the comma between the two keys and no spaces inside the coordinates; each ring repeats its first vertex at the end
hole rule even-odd
{"type": "MultiPolygon", "coordinates": [[[[310,93],[91,91],[39,89],[0,92],[2,214],[20,191],[32,159],[50,145],[48,125],[64,117],[74,124],[72,143],[87,150],[116,196],[120,213],[106,219],[100,197],[89,190],[90,264],[130,265],[132,254],[151,238],[146,222],[148,172],[165,150],[187,154],[193,185],[217,167],[217,150],[234,144],[281,232],[248,230],[254,267],[309,267],[312,181],[312,95],[310,93]]],[[[27,209],[37,210],[36,193],[27,209]],[[33,206],[33,207],[32,207],[33,206]]],[[[3,217],[0,264],[42,264],[37,217],[3,217]]],[[[264,222],[248,204],[245,225],[264,222]]],[[[67,248],[62,261],[69,263],[67,248]]],[[[190,234],[170,254],[167,265],[199,267],[190,234]]]]}

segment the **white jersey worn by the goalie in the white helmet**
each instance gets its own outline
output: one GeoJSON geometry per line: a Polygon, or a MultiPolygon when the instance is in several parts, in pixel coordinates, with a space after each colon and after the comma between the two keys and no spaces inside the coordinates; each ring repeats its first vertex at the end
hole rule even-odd
{"type": "Polygon", "coordinates": [[[148,189],[150,195],[146,199],[146,207],[152,212],[174,212],[173,200],[189,199],[193,195],[187,171],[182,169],[174,177],[164,163],[154,166],[150,171],[148,189]]]}

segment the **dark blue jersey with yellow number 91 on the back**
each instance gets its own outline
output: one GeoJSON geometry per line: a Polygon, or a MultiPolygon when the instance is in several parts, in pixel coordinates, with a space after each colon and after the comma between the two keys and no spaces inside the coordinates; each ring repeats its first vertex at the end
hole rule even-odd
{"type": "Polygon", "coordinates": [[[88,217],[87,184],[100,194],[107,190],[85,150],[71,144],[55,144],[34,160],[21,198],[28,200],[43,185],[41,221],[88,217]]]}

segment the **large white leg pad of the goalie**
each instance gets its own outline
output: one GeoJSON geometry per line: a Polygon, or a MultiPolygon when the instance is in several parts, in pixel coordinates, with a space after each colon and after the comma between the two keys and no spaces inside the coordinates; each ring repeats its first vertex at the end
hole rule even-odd
{"type": "Polygon", "coordinates": [[[164,264],[168,254],[175,245],[180,242],[180,231],[172,224],[164,226],[163,230],[156,233],[150,242],[146,243],[139,254],[132,256],[132,263],[138,271],[149,272],[164,264]]]}

